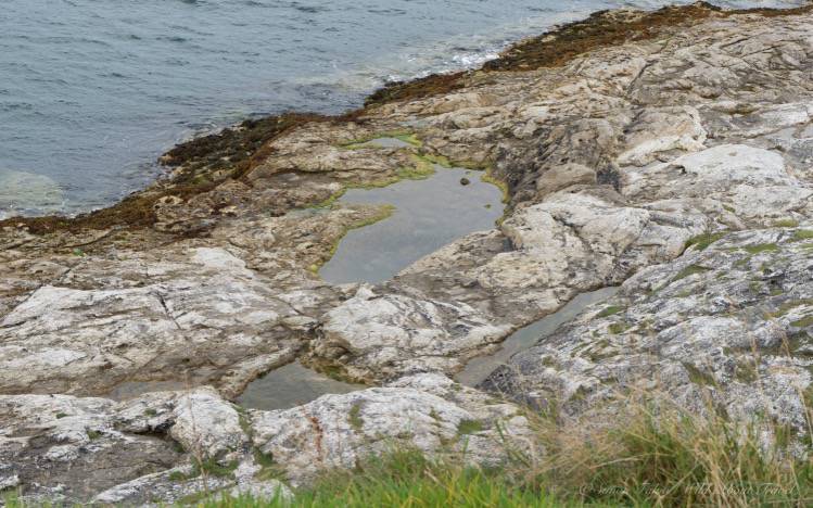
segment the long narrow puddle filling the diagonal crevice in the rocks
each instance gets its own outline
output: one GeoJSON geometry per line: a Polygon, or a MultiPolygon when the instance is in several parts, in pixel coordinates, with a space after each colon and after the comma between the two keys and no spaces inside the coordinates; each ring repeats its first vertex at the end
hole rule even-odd
{"type": "Polygon", "coordinates": [[[561,325],[576,317],[586,307],[611,297],[618,290],[618,288],[602,288],[577,295],[556,313],[511,333],[496,353],[469,361],[462,372],[457,374],[455,379],[461,384],[475,386],[497,367],[505,365],[516,353],[533,346],[541,339],[556,331],[561,325]]]}

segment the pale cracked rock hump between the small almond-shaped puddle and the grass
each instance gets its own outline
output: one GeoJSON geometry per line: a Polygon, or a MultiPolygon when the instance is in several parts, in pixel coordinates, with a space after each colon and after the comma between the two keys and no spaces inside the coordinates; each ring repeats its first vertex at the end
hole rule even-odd
{"type": "Polygon", "coordinates": [[[325,395],[284,411],[251,411],[250,417],[254,444],[279,461],[294,482],[325,469],[351,469],[370,454],[404,444],[491,465],[505,458],[507,446],[529,449],[533,444],[518,406],[440,374],[325,395]]]}

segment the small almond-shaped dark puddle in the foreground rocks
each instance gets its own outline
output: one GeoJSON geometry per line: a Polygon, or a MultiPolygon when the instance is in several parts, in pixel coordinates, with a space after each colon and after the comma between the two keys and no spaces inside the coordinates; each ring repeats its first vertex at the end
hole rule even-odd
{"type": "Polygon", "coordinates": [[[366,388],[363,384],[336,381],[295,361],[250,383],[237,403],[243,407],[268,411],[290,409],[328,393],[350,393],[366,388]]]}

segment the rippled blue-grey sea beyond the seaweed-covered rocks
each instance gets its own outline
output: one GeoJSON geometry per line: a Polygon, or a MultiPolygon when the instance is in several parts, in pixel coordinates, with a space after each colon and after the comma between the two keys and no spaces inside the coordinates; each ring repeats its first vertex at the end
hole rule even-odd
{"type": "Polygon", "coordinates": [[[339,112],[386,79],[474,66],[592,11],[666,3],[0,0],[0,217],[104,206],[194,134],[339,112]]]}

